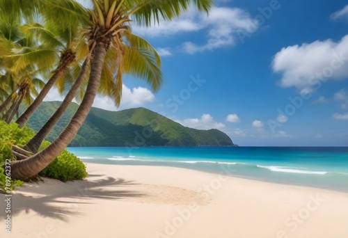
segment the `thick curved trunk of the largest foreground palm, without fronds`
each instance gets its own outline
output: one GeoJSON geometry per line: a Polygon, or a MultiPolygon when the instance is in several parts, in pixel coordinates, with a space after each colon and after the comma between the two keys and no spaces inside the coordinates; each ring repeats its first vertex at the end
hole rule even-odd
{"type": "Polygon", "coordinates": [[[60,154],[64,148],[72,141],[77,134],[82,123],[86,119],[90,108],[92,107],[106,55],[106,45],[98,43],[95,48],[95,55],[91,63],[90,77],[84,99],[74,114],[69,124],[63,129],[63,132],[54,140],[45,150],[34,154],[28,159],[20,161],[11,161],[11,176],[13,179],[26,180],[29,177],[37,175],[42,169],[46,168],[60,154]]]}

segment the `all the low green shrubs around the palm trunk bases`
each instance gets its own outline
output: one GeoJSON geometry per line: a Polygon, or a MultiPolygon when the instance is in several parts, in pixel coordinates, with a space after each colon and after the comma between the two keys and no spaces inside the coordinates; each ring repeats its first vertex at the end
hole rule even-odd
{"type": "MultiPolygon", "coordinates": [[[[6,162],[15,160],[12,154],[12,145],[25,145],[35,132],[29,127],[20,128],[15,122],[7,124],[0,121],[0,191],[6,192],[8,189],[15,189],[15,186],[22,185],[20,180],[8,180],[10,173],[6,171],[6,162]]],[[[44,141],[40,150],[49,145],[44,141]]],[[[81,180],[87,176],[86,166],[74,154],[64,150],[54,161],[49,164],[39,175],[51,177],[63,182],[68,180],[81,180]]]]}

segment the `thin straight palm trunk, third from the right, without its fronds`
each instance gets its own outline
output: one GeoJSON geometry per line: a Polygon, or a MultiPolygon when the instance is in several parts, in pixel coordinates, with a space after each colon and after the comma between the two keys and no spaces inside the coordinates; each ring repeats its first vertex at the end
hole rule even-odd
{"type": "Polygon", "coordinates": [[[45,99],[47,93],[49,93],[49,90],[54,86],[54,83],[56,83],[57,79],[59,77],[62,77],[66,72],[68,72],[69,65],[74,61],[74,56],[67,57],[65,54],[70,54],[70,51],[65,52],[61,56],[61,63],[52,75],[52,77],[47,81],[47,84],[42,88],[40,91],[38,97],[35,98],[34,102],[22,113],[21,116],[17,119],[17,124],[21,127],[23,127],[26,122],[29,120],[29,118],[33,115],[33,113],[38,109],[41,102],[45,99]]]}

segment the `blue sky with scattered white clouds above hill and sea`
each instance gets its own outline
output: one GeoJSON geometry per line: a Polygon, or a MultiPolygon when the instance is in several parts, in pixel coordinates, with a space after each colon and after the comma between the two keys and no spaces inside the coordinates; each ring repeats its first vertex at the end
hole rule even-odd
{"type": "MultiPolygon", "coordinates": [[[[125,77],[120,109],[144,106],[238,145],[348,146],[348,5],[220,0],[134,33],[162,56],[152,93],[125,77]]],[[[55,95],[49,95],[54,99],[55,95]]],[[[95,106],[116,109],[97,97],[95,106]]]]}

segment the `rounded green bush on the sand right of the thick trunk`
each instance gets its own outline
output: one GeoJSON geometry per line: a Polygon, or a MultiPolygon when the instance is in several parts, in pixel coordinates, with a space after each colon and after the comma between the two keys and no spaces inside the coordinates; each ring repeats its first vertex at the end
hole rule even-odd
{"type": "Polygon", "coordinates": [[[39,175],[63,182],[82,180],[87,176],[86,166],[74,154],[63,150],[39,175]]]}

